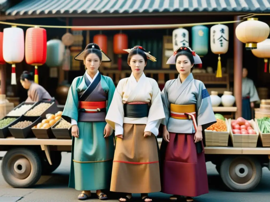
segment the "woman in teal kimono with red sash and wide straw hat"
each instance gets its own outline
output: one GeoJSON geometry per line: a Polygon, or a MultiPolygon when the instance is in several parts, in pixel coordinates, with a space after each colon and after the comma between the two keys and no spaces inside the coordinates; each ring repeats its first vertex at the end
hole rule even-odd
{"type": "Polygon", "coordinates": [[[79,200],[90,198],[90,190],[97,190],[99,199],[105,200],[101,190],[110,189],[114,156],[113,130],[105,117],[115,86],[98,68],[111,60],[95,43],[88,44],[75,60],[84,62],[86,72],[73,80],[62,114],[72,124],[69,187],[82,191],[79,200]]]}

